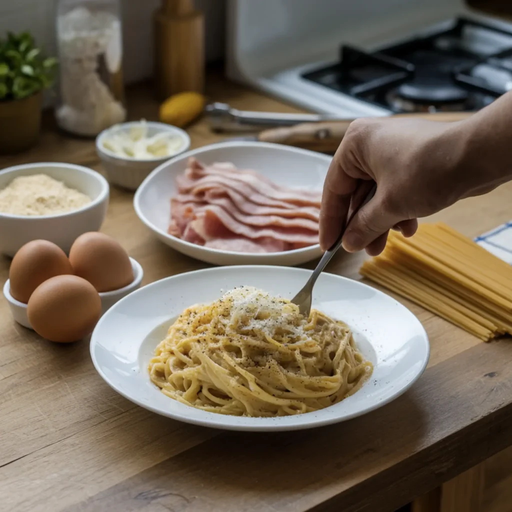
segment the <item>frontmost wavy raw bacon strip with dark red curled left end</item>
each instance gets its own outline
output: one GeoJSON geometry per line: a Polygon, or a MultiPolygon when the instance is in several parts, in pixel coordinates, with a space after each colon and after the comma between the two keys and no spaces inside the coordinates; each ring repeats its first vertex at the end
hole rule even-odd
{"type": "Polygon", "coordinates": [[[233,233],[253,240],[271,238],[290,244],[313,245],[318,243],[318,233],[308,229],[247,226],[231,217],[219,206],[206,206],[201,213],[202,216],[193,223],[196,229],[196,223],[202,221],[201,230],[206,234],[206,240],[219,237],[228,238],[229,233],[233,233]]]}

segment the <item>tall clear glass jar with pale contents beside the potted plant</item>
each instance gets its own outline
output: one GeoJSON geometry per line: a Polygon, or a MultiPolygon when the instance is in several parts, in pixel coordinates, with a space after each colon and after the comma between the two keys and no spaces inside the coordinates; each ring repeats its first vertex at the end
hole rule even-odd
{"type": "Polygon", "coordinates": [[[95,136],[123,122],[120,0],[59,0],[59,126],[95,136]]]}

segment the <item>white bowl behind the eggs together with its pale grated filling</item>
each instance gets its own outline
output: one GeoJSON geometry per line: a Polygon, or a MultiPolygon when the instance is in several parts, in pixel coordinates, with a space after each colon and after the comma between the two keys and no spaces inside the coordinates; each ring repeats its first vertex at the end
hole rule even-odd
{"type": "Polygon", "coordinates": [[[98,231],[109,204],[109,183],[87,167],[30,163],[0,170],[0,253],[13,257],[32,240],[69,253],[83,233],[98,231]]]}

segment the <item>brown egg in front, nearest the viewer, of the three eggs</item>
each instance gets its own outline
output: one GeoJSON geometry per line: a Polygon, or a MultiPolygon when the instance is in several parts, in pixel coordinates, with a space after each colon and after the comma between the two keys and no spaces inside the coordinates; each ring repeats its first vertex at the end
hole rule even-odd
{"type": "Polygon", "coordinates": [[[101,316],[101,298],[88,281],[57,275],[34,290],[27,315],[39,336],[51,342],[76,342],[93,331],[101,316]]]}

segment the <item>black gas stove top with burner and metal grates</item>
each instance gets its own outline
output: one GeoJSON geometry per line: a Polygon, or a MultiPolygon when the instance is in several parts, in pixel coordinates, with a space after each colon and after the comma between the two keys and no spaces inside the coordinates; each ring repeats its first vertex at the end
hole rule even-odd
{"type": "Polygon", "coordinates": [[[512,30],[458,18],[375,52],[344,45],[301,77],[390,112],[479,110],[512,89],[512,30]]]}

